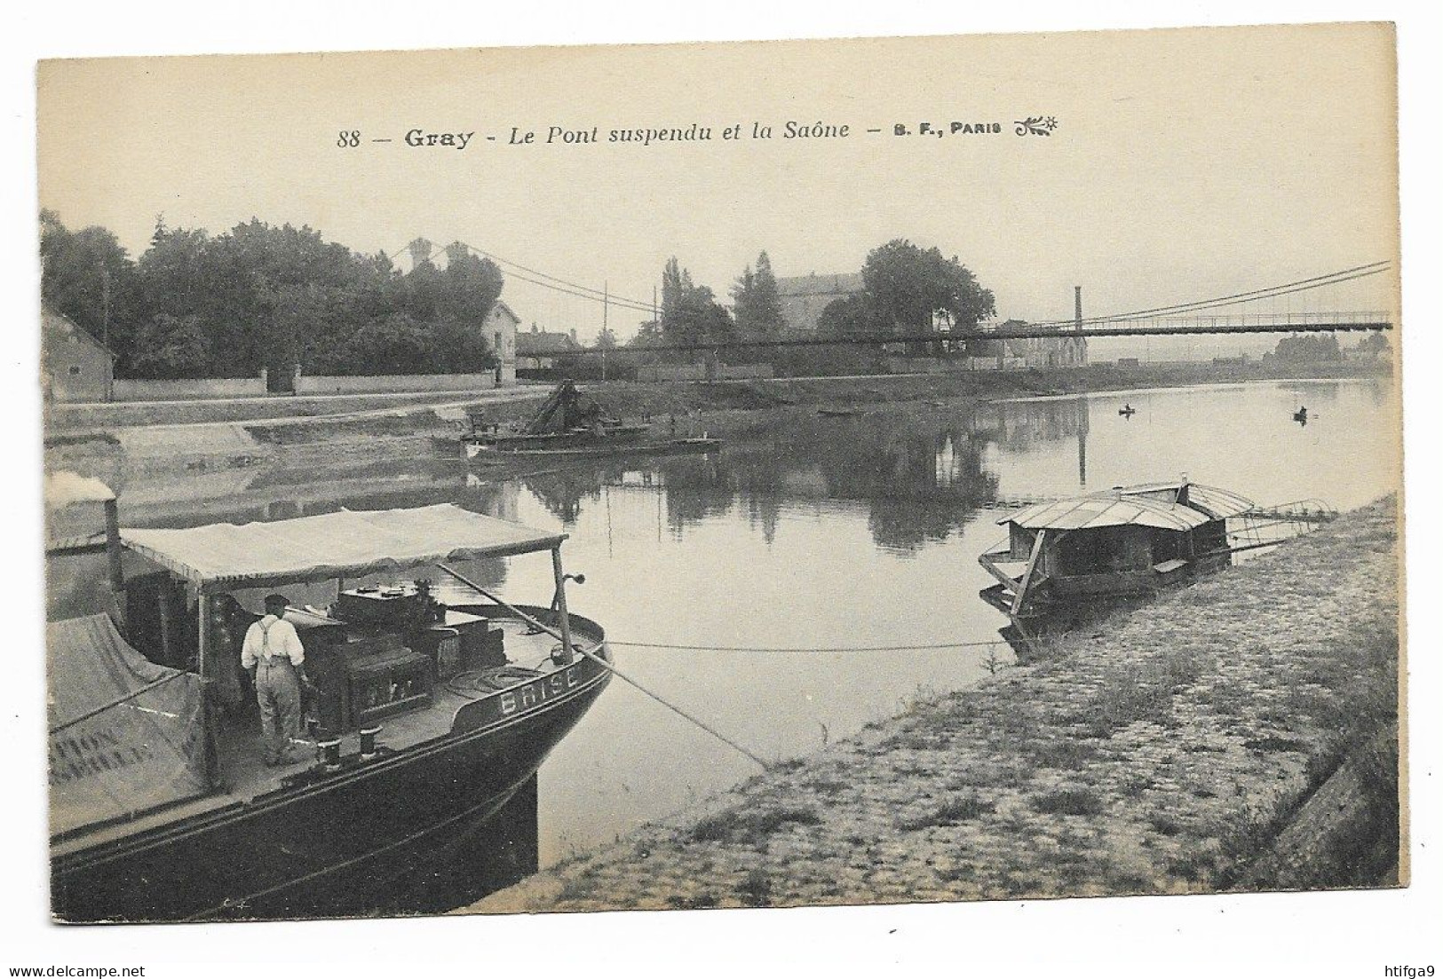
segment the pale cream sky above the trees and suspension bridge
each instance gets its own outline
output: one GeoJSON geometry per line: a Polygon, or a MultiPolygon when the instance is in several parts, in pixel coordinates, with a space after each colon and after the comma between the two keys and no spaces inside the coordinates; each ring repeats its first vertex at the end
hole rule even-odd
{"type": "MultiPolygon", "coordinates": [[[[159,215],[212,234],[255,216],[362,252],[463,241],[644,307],[671,255],[729,301],[763,249],[778,275],[848,273],[908,238],[971,268],[1000,319],[1046,320],[1074,285],[1120,313],[1392,258],[1392,72],[1381,25],[55,61],[39,199],[133,255],[159,215]],[[1056,128],[1017,136],[1029,117],[1056,128]],[[788,121],[848,136],[784,138],[788,121]],[[1000,133],[916,134],[954,121],[1000,133]],[[608,141],[691,124],[711,140],[608,141]]],[[[515,274],[504,298],[583,340],[649,319],[515,274]]],[[[1374,278],[1261,311],[1390,298],[1374,278]]]]}

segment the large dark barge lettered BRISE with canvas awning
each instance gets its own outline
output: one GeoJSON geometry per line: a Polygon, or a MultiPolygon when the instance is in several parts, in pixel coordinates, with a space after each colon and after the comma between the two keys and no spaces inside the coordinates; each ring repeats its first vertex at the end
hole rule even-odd
{"type": "Polygon", "coordinates": [[[495,871],[457,862],[508,862],[496,887],[535,871],[534,776],[610,679],[602,627],[567,611],[566,535],[453,505],[120,529],[108,490],[74,483],[105,532],[48,554],[107,554],[110,614],[48,629],[58,918],[440,910],[434,881],[495,871]],[[470,584],[444,562],[534,552],[551,555],[550,607],[375,584],[423,567],[470,584]],[[315,689],[300,761],[268,767],[240,642],[278,587],[315,689]],[[478,856],[514,797],[530,842],[478,856]]]}

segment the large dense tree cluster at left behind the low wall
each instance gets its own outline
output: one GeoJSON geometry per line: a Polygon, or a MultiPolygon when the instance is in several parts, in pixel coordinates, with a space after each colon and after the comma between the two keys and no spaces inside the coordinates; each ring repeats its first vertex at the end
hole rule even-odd
{"type": "Polygon", "coordinates": [[[261,221],[221,235],[156,222],[131,261],[104,228],[40,215],[42,294],[133,378],[459,373],[495,363],[482,323],[502,275],[475,255],[401,274],[320,232],[261,221]]]}

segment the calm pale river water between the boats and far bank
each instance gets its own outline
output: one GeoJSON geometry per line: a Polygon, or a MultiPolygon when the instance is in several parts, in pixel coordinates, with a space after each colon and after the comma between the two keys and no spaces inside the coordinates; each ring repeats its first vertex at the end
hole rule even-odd
{"type": "MultiPolygon", "coordinates": [[[[919,694],[975,683],[990,656],[991,666],[1012,659],[1001,643],[925,649],[997,640],[1006,624],[977,597],[988,584],[977,555],[1001,538],[1001,512],[990,503],[1186,473],[1258,503],[1323,497],[1354,508],[1398,483],[1392,395],[1390,381],[1286,382],[909,404],[853,417],[789,409],[765,437],[729,438],[714,457],[506,480],[446,460],[238,471],[198,477],[214,480],[196,490],[203,503],[188,503],[172,479],[131,483],[120,505],[130,523],[173,526],[455,500],[564,529],[569,570],[586,574],[571,608],[606,627],[620,669],[775,758],[848,737],[919,694]],[[1136,414],[1120,415],[1124,404],[1136,414]],[[1306,427],[1293,421],[1303,405],[1306,427]],[[916,649],[727,650],[756,646],[916,649]]],[[[544,555],[473,571],[491,584],[504,575],[508,597],[550,597],[544,555]]],[[[65,591],[63,581],[56,587],[65,591]]],[[[753,771],[613,682],[541,770],[541,862],[609,842],[753,771]]]]}

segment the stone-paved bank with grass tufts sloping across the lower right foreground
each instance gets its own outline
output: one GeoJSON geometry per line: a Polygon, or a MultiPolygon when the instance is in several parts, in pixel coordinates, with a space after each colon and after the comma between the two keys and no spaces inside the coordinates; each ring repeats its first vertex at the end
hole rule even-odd
{"type": "Polygon", "coordinates": [[[1351,513],[472,910],[1392,882],[1395,518],[1351,513]],[[1328,793],[1355,818],[1284,852],[1328,793]]]}

